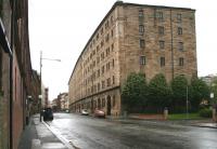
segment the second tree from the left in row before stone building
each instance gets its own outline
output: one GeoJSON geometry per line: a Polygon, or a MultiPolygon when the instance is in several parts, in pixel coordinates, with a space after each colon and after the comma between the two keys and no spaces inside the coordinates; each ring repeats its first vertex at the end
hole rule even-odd
{"type": "Polygon", "coordinates": [[[149,84],[149,104],[162,110],[169,106],[171,90],[166,82],[164,74],[156,74],[149,84]]]}

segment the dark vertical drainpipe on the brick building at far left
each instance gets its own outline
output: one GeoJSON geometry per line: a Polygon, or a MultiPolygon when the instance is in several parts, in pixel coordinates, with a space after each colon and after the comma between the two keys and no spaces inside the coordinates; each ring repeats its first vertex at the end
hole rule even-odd
{"type": "Polygon", "coordinates": [[[11,1],[11,51],[10,56],[10,149],[13,149],[13,44],[14,44],[14,6],[15,1],[11,1]]]}

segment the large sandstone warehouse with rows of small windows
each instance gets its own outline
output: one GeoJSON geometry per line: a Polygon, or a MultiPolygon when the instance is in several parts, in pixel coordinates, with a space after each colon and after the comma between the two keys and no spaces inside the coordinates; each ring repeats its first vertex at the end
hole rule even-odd
{"type": "Polygon", "coordinates": [[[116,2],[82,50],[68,81],[71,110],[122,114],[130,72],[196,76],[194,10],[116,2]]]}

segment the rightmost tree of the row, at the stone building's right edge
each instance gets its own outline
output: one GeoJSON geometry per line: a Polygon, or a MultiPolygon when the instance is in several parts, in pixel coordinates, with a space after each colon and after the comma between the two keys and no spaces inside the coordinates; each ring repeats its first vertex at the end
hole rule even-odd
{"type": "Polygon", "coordinates": [[[191,105],[194,109],[199,109],[202,99],[209,98],[209,89],[206,83],[199,79],[191,79],[192,95],[190,97],[191,105]]]}

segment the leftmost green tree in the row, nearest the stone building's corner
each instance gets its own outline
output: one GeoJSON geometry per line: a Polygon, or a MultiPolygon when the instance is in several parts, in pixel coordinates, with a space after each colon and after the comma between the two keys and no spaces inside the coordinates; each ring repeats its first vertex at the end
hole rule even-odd
{"type": "Polygon", "coordinates": [[[141,73],[130,73],[122,90],[123,104],[127,107],[127,110],[141,107],[146,101],[146,81],[141,73]]]}

